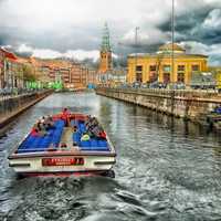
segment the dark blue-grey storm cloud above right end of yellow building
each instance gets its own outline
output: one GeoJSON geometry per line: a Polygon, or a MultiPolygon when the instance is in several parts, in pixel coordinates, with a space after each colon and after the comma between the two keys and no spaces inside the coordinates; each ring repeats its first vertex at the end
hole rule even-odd
{"type": "MultiPolygon", "coordinates": [[[[221,65],[221,11],[219,8],[202,7],[176,17],[176,41],[187,42],[187,52],[209,55],[210,65],[221,65]],[[207,22],[209,20],[209,22],[207,22]],[[197,46],[197,45],[200,46],[197,46]],[[204,49],[204,50],[203,50],[204,49]]],[[[158,25],[162,32],[171,32],[171,21],[158,25]]]]}

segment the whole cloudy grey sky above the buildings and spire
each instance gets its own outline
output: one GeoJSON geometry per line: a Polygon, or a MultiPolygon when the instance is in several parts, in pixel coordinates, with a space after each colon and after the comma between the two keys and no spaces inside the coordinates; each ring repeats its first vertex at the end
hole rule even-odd
{"type": "MultiPolygon", "coordinates": [[[[39,56],[98,56],[107,21],[114,52],[156,51],[170,40],[171,0],[0,0],[0,44],[39,56]],[[120,44],[119,44],[120,43],[120,44]]],[[[221,1],[177,0],[176,39],[221,64],[221,1]]]]}

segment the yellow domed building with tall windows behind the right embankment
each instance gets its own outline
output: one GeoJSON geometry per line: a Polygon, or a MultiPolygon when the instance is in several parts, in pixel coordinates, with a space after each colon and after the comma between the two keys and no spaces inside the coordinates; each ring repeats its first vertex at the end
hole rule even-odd
{"type": "Polygon", "coordinates": [[[208,71],[208,56],[201,54],[188,54],[186,50],[173,44],[172,71],[172,44],[165,44],[154,54],[131,54],[127,59],[127,82],[141,83],[185,83],[190,84],[193,72],[208,71]]]}

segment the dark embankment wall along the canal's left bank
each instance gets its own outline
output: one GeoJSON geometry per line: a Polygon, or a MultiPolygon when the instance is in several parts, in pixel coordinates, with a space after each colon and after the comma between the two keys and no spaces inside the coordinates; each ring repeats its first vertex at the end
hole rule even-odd
{"type": "Polygon", "coordinates": [[[52,91],[36,92],[13,97],[0,98],[0,128],[3,128],[19,114],[33,106],[44,97],[52,94],[52,91]]]}

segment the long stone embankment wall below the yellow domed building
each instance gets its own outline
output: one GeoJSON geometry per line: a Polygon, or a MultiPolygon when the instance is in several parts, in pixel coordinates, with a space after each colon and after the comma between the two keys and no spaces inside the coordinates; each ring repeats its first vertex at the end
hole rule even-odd
{"type": "Polygon", "coordinates": [[[99,87],[96,94],[193,122],[221,105],[221,95],[215,92],[99,87]]]}

